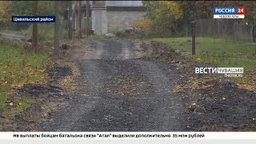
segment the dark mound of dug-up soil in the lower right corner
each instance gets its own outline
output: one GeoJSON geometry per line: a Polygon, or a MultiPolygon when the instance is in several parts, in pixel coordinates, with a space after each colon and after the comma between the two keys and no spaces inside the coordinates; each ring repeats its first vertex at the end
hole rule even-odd
{"type": "Polygon", "coordinates": [[[255,93],[239,89],[233,82],[211,84],[211,89],[194,90],[184,98],[189,103],[186,114],[190,127],[203,131],[255,131],[255,93]]]}

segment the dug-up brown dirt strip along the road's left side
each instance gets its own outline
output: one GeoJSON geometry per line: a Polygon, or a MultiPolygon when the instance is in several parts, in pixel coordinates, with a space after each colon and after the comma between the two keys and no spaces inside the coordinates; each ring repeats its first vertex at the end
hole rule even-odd
{"type": "MultiPolygon", "coordinates": [[[[39,50],[45,51],[51,59],[45,70],[47,77],[44,82],[27,83],[14,90],[7,100],[13,103],[13,106],[6,106],[9,114],[0,113],[0,131],[37,131],[40,123],[45,122],[54,110],[65,105],[62,101],[66,99],[66,90],[70,89],[73,77],[78,75],[78,70],[71,62],[85,56],[83,50],[86,49],[82,46],[89,46],[86,44],[86,41],[75,39],[68,41],[60,47],[59,57],[55,58],[53,44],[39,43],[39,50]],[[32,101],[32,104],[26,106],[25,110],[16,109],[18,99],[22,97],[32,101]]],[[[31,49],[30,42],[20,42],[20,46],[24,50],[31,49]]]]}

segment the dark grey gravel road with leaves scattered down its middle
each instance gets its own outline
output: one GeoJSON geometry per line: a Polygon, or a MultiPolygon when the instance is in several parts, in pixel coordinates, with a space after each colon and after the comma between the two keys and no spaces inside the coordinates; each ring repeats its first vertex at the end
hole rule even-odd
{"type": "Polygon", "coordinates": [[[76,61],[78,90],[41,131],[185,131],[184,103],[170,89],[176,66],[135,58],[130,42],[92,41],[96,53],[76,61]]]}

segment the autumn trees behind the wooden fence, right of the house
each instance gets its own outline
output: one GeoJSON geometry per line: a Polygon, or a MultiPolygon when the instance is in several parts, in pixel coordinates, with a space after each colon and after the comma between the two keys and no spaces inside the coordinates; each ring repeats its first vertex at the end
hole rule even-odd
{"type": "Polygon", "coordinates": [[[147,36],[183,35],[190,33],[190,22],[213,18],[214,6],[244,6],[244,19],[233,19],[240,24],[256,24],[256,1],[142,1],[146,18],[133,22],[147,36]],[[150,22],[149,22],[150,21],[150,22]]]}

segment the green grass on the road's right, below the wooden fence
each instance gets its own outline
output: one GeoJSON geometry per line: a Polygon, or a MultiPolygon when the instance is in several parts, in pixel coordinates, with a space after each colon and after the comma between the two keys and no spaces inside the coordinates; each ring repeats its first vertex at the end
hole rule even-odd
{"type": "MultiPolygon", "coordinates": [[[[154,38],[175,50],[191,51],[191,38],[154,38]]],[[[218,66],[243,67],[245,71],[256,70],[256,43],[238,42],[222,38],[196,38],[196,55],[186,57],[218,66]],[[207,51],[208,54],[199,52],[207,51]],[[223,53],[225,52],[225,53],[223,53]]]]}

